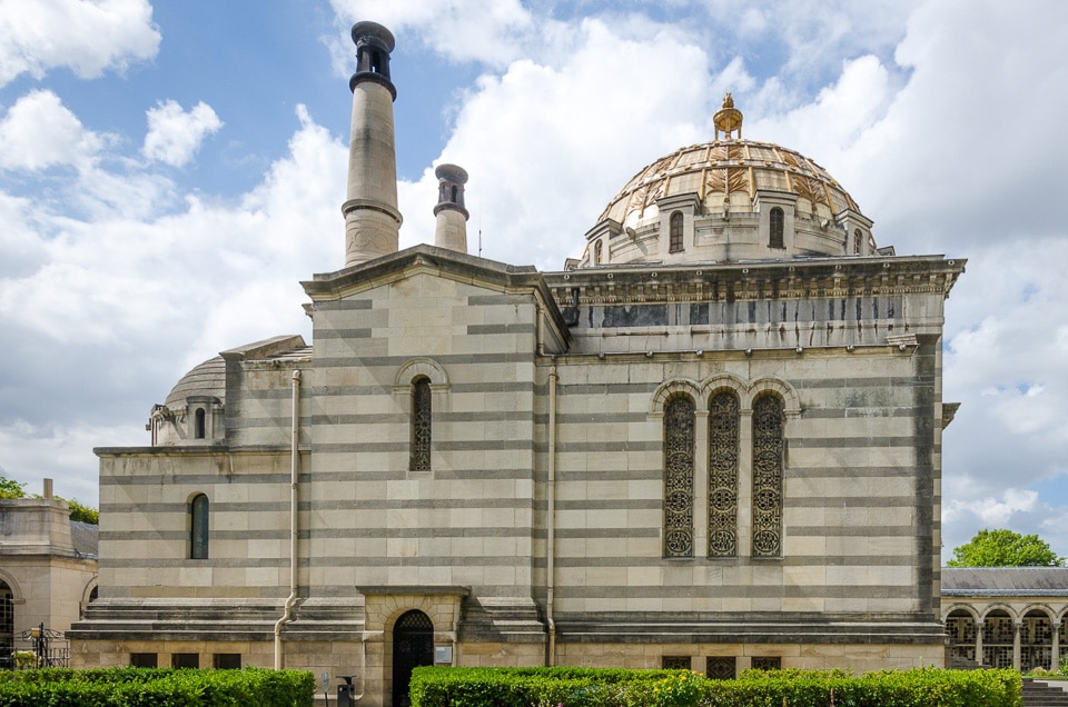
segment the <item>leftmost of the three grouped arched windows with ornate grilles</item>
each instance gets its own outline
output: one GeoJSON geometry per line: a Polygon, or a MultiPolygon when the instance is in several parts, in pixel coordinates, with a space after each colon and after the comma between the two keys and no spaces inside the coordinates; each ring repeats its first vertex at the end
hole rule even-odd
{"type": "Polygon", "coordinates": [[[664,557],[693,557],[694,405],[679,395],[664,406],[664,557]]]}

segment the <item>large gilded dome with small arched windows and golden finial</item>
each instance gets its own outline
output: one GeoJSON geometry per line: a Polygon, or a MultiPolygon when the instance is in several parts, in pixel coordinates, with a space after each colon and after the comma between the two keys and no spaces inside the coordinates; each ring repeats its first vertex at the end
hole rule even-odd
{"type": "Polygon", "coordinates": [[[586,233],[578,267],[876,253],[871,220],[823,167],[744,140],[741,126],[728,93],[715,140],[639,170],[586,233]]]}

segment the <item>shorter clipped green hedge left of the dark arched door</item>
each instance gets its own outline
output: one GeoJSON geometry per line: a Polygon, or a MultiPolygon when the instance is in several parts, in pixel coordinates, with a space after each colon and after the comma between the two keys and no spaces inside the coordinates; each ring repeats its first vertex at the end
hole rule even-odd
{"type": "Polygon", "coordinates": [[[0,707],[312,707],[304,670],[105,668],[0,671],[0,707]]]}

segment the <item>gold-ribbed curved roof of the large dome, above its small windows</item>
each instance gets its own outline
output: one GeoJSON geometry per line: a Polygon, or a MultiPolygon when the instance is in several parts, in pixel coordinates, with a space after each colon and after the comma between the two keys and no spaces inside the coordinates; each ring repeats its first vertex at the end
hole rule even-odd
{"type": "Polygon", "coordinates": [[[758,189],[795,193],[809,201],[809,210],[819,212],[822,206],[828,216],[860,210],[825,169],[800,152],[772,142],[724,139],[681,148],[642,168],[597,220],[635,227],[663,197],[696,193],[708,201],[712,195],[741,192],[752,199],[758,189]]]}

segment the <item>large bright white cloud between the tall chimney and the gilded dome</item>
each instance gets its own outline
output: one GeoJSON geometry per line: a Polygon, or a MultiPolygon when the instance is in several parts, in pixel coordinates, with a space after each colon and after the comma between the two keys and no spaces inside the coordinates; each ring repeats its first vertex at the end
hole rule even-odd
{"type": "MultiPolygon", "coordinates": [[[[481,227],[485,257],[561,268],[581,252],[583,233],[631,175],[703,138],[720,98],[710,93],[704,51],[674,31],[626,39],[587,20],[561,59],[516,61],[464,97],[441,159],[471,173],[471,251],[481,227]],[[673,70],[635,61],[653,54],[671,57],[673,70]]],[[[426,199],[434,189],[429,171],[421,183],[426,199]]],[[[402,202],[405,245],[433,240],[425,215],[434,202],[433,196],[418,206],[402,202]]]]}

